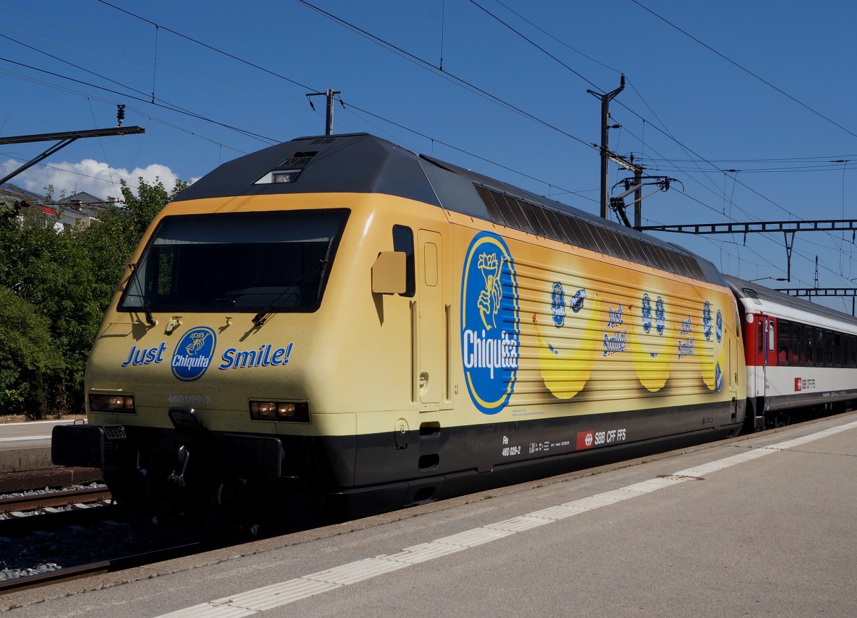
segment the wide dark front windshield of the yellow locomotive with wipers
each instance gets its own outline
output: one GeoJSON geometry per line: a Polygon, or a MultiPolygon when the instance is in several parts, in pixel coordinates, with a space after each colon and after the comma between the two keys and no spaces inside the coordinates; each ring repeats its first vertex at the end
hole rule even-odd
{"type": "Polygon", "coordinates": [[[312,312],[348,211],[165,217],[120,311],[312,312]]]}

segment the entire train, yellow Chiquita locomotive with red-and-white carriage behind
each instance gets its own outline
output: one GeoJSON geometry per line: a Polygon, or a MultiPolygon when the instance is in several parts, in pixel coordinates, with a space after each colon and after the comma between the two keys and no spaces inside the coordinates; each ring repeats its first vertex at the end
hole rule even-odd
{"type": "Polygon", "coordinates": [[[156,531],[341,520],[849,405],[855,336],[553,199],[309,136],[154,218],[52,457],[99,467],[156,531]],[[781,365],[781,332],[812,362],[781,365]]]}

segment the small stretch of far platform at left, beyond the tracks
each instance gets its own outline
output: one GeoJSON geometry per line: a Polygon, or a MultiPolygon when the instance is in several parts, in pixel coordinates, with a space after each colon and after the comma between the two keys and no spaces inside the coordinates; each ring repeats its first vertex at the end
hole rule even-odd
{"type": "Polygon", "coordinates": [[[0,493],[87,483],[101,478],[91,468],[67,468],[51,462],[51,431],[73,420],[45,420],[0,425],[0,493]]]}

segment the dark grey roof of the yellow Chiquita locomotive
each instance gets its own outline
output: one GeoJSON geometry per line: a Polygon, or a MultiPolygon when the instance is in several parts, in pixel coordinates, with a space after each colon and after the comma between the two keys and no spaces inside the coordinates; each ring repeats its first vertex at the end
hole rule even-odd
{"type": "Polygon", "coordinates": [[[369,134],[303,137],[220,165],[178,200],[279,193],[386,193],[718,285],[709,261],[672,243],[369,134]],[[297,170],[291,182],[258,182],[297,170]]]}

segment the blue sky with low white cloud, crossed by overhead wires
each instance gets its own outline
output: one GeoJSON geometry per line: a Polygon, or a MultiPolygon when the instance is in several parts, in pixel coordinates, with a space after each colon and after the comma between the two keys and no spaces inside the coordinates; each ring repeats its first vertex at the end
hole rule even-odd
{"type": "MultiPolygon", "coordinates": [[[[0,135],[112,127],[127,105],[125,124],[145,135],[78,140],[14,180],[117,196],[120,178],[194,180],[322,134],[323,98],[314,111],[305,95],[333,88],[337,133],[377,134],[597,213],[600,104],[586,91],[611,91],[624,73],[611,150],[680,181],[644,200],[644,224],[854,217],[857,4],[772,6],[0,0],[0,135]]],[[[0,171],[48,146],[0,146],[0,171]]],[[[611,185],[625,176],[611,165],[611,185]]],[[[728,274],[786,276],[782,234],[660,237],[728,274]]],[[[761,283],[812,287],[816,256],[820,287],[854,286],[850,232],[799,233],[792,281],[761,283]]],[[[850,299],[824,303],[851,312],[850,299]]]]}

